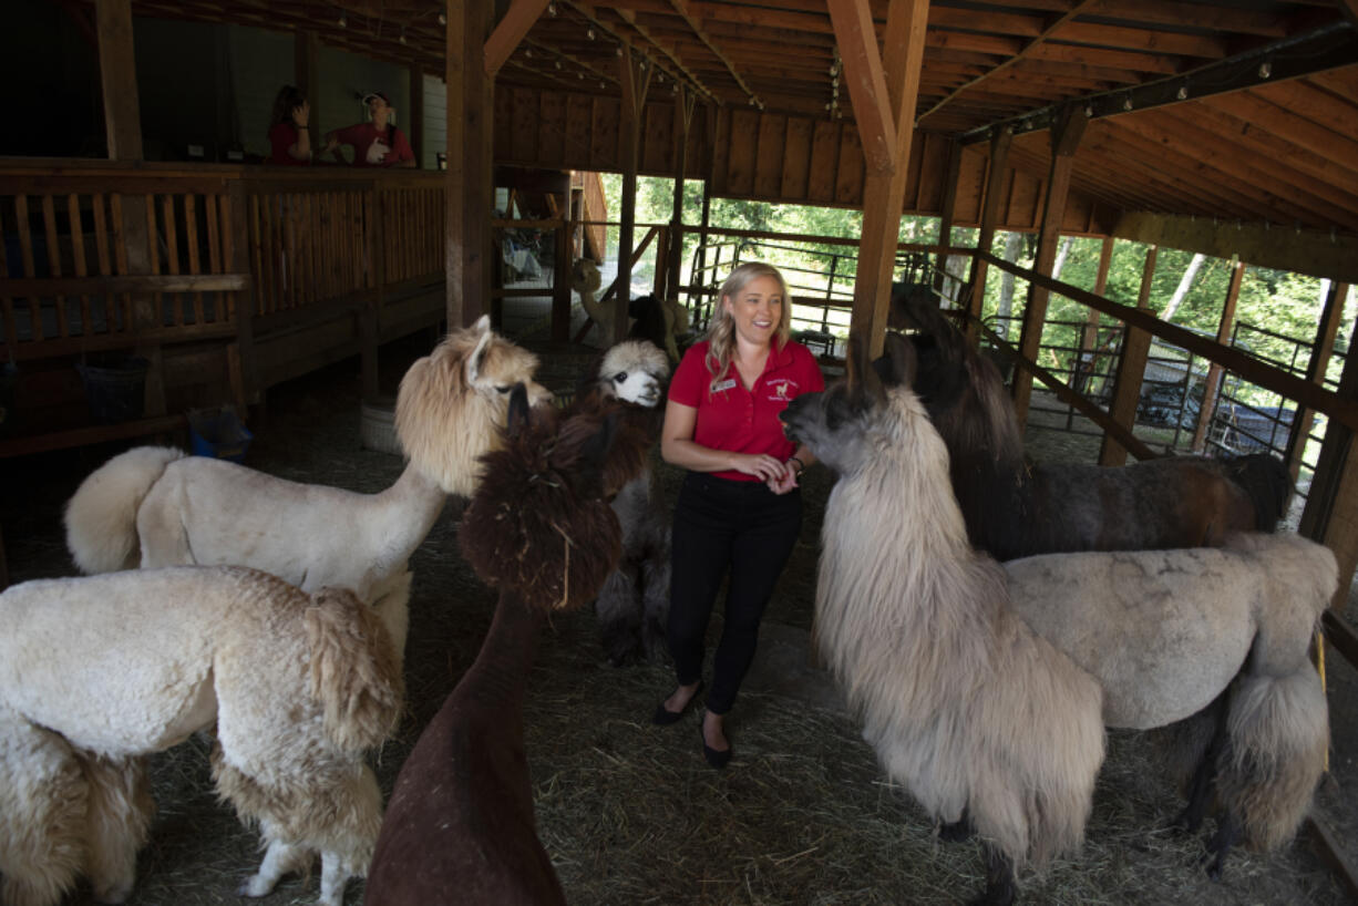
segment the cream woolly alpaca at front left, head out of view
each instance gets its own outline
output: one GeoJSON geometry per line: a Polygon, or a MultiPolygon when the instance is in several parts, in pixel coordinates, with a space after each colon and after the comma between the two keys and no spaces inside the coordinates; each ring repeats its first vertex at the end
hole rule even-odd
{"type": "Polygon", "coordinates": [[[86,873],[124,902],[153,803],[144,759],[217,727],[219,795],[268,844],[262,896],[320,852],[320,903],[365,872],[382,820],[365,750],[402,702],[398,652],[349,590],[171,566],[0,594],[0,899],[53,906],[86,873]]]}

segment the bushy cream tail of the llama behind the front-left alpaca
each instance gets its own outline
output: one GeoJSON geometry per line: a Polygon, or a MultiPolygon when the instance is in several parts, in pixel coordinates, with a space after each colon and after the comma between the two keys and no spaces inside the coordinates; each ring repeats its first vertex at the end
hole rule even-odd
{"type": "Polygon", "coordinates": [[[67,547],[80,572],[136,569],[137,509],[166,466],[185,452],[171,447],[134,447],[95,469],[67,503],[67,547]]]}

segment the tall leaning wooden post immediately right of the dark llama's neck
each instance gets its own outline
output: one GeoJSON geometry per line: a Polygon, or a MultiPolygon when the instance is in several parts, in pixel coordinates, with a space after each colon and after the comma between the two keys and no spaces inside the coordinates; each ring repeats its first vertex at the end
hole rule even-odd
{"type": "MultiPolygon", "coordinates": [[[[1051,175],[1047,178],[1047,201],[1042,211],[1042,234],[1038,238],[1038,255],[1032,269],[1050,277],[1057,261],[1057,246],[1061,242],[1061,221],[1066,213],[1066,194],[1070,189],[1070,171],[1076,162],[1076,148],[1085,134],[1089,117],[1084,109],[1066,106],[1059,122],[1051,130],[1051,175]]],[[[1014,399],[1014,414],[1019,424],[1028,421],[1028,401],[1032,397],[1032,372],[1025,361],[1038,360],[1042,346],[1042,329],[1047,323],[1047,299],[1050,292],[1033,284],[1028,287],[1028,307],[1023,314],[1023,333],[1019,336],[1019,360],[1014,363],[1014,376],[1010,393],[1014,399]]],[[[1126,356],[1123,356],[1126,360],[1126,356]]],[[[1122,450],[1120,444],[1118,447],[1122,450]]],[[[1126,458],[1127,451],[1122,450],[1126,458]]]]}

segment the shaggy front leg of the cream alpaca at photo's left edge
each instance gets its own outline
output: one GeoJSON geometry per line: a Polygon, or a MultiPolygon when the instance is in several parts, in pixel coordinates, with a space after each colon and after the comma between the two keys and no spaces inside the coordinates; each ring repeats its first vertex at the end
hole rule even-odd
{"type": "Polygon", "coordinates": [[[0,902],[56,906],[75,886],[87,799],[65,739],[0,708],[0,902]]]}

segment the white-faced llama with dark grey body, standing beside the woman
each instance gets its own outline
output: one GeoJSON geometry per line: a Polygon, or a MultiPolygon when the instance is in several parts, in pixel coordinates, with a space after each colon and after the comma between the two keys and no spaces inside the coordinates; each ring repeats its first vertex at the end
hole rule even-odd
{"type": "MultiPolygon", "coordinates": [[[[625,407],[655,439],[664,383],[669,376],[665,353],[645,340],[626,340],[599,357],[576,391],[572,412],[599,406],[625,407]],[[640,409],[637,409],[640,407],[640,409]]],[[[612,500],[622,524],[622,558],[608,573],[595,613],[599,640],[614,667],[636,656],[656,662],[664,652],[669,617],[669,512],[660,484],[649,465],[612,500]]]]}

